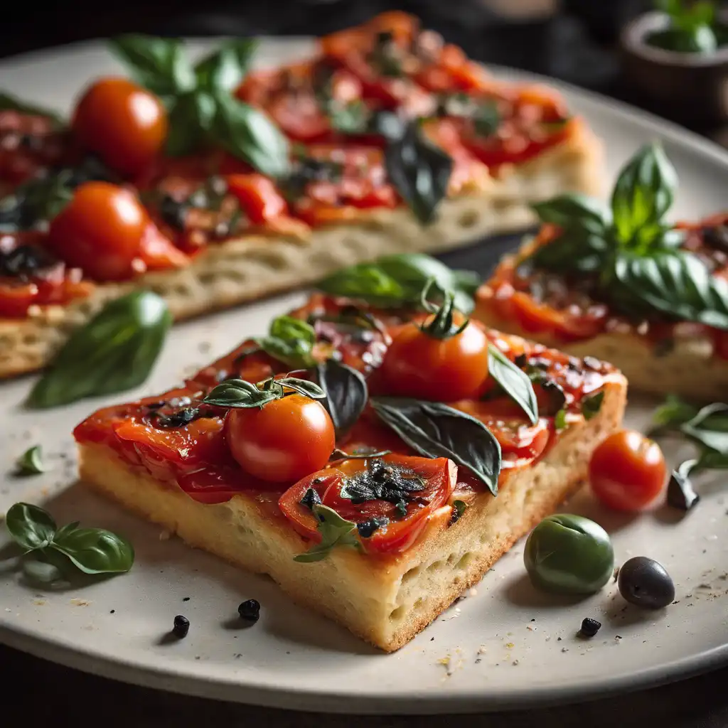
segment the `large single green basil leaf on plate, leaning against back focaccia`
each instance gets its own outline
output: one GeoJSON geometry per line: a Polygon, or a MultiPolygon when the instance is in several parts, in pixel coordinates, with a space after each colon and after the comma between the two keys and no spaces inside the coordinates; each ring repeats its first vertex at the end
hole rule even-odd
{"type": "Polygon", "coordinates": [[[109,302],[60,350],[28,406],[45,408],[141,384],[162,350],[172,316],[163,298],[135,290],[109,302]]]}

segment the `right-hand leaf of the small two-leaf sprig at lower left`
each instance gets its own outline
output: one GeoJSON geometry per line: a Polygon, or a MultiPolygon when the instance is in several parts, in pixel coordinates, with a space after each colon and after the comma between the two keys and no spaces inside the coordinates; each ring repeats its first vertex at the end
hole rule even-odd
{"type": "Polygon", "coordinates": [[[105,529],[72,529],[56,534],[52,547],[68,556],[84,574],[119,574],[134,563],[127,539],[105,529]]]}

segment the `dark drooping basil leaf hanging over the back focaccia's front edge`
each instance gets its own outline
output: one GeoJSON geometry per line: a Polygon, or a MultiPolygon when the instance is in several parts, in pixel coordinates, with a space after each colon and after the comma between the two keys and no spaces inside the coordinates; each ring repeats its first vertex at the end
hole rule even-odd
{"type": "Polygon", "coordinates": [[[446,197],[453,160],[424,138],[416,122],[408,124],[400,138],[384,150],[389,181],[423,224],[432,222],[446,197]]]}

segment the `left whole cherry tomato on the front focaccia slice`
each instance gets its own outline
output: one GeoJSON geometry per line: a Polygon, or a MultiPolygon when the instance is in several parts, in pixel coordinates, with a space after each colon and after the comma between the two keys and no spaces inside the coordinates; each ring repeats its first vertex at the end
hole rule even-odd
{"type": "Polygon", "coordinates": [[[243,470],[274,483],[320,470],[335,445],[328,412],[302,395],[288,395],[262,408],[231,409],[226,438],[243,470]]]}

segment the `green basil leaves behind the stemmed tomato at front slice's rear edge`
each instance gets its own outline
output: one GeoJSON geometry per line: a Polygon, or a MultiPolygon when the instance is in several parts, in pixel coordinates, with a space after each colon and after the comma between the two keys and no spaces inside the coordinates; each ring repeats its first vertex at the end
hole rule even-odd
{"type": "Polygon", "coordinates": [[[480,279],[470,271],[454,271],[424,253],[399,253],[373,263],[344,268],[320,281],[317,288],[331,296],[365,301],[379,308],[415,308],[430,280],[440,290],[451,291],[454,306],[469,314],[480,279]]]}

